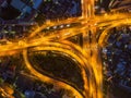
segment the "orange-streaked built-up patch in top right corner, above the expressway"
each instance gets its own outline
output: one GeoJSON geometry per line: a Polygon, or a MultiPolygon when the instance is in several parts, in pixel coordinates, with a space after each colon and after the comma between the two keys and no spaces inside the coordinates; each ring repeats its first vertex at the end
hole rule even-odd
{"type": "Polygon", "coordinates": [[[130,0],[96,0],[96,14],[105,12],[131,12],[130,0]]]}

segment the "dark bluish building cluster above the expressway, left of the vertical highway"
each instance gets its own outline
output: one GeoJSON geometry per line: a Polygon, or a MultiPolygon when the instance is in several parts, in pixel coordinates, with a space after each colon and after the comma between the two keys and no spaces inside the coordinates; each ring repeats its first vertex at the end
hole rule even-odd
{"type": "Polygon", "coordinates": [[[78,15],[81,0],[1,0],[0,39],[25,36],[32,26],[45,20],[78,15]]]}

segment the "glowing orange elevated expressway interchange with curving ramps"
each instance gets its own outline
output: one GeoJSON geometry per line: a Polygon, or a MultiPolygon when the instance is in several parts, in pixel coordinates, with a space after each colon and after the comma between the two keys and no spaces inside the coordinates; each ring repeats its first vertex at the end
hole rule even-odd
{"type": "MultiPolygon", "coordinates": [[[[58,85],[61,88],[72,90],[75,98],[103,98],[103,74],[102,63],[99,58],[99,49],[104,47],[104,41],[109,35],[109,29],[122,24],[131,24],[131,14],[104,14],[100,16],[94,15],[94,1],[82,0],[82,16],[71,17],[64,21],[50,22],[47,21],[43,26],[36,28],[27,38],[5,45],[0,45],[0,56],[15,54],[23,52],[24,63],[33,75],[43,82],[58,85]],[[79,23],[72,27],[61,27],[61,29],[50,30],[48,34],[43,33],[45,28],[53,27],[57,25],[71,25],[79,23]],[[100,34],[99,40],[96,40],[97,28],[106,27],[100,34]],[[83,34],[83,39],[88,37],[86,34],[92,34],[92,42],[83,40],[83,47],[80,47],[67,40],[78,34],[83,34]],[[84,81],[84,90],[80,91],[74,86],[67,82],[46,76],[45,74],[36,71],[28,61],[28,51],[59,51],[67,54],[70,59],[79,62],[81,75],[84,81]]],[[[61,54],[62,54],[61,53],[61,54]]]]}

